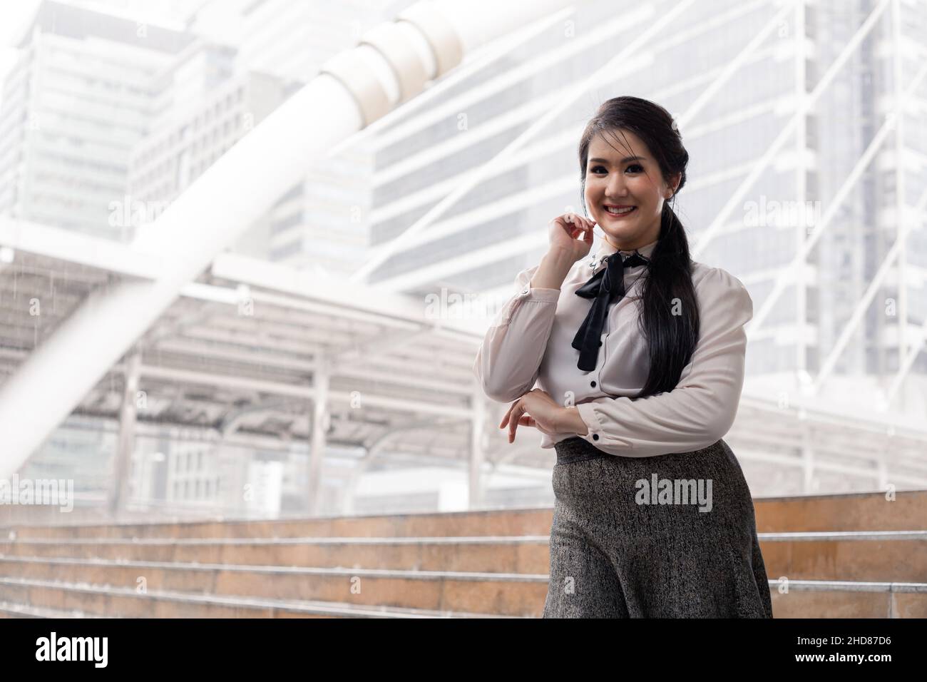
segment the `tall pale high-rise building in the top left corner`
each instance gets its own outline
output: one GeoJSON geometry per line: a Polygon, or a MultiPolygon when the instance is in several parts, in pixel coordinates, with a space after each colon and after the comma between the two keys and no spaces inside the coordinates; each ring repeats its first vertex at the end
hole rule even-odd
{"type": "Polygon", "coordinates": [[[192,36],[44,0],[19,41],[0,110],[0,213],[96,237],[146,135],[147,83],[192,36]]]}

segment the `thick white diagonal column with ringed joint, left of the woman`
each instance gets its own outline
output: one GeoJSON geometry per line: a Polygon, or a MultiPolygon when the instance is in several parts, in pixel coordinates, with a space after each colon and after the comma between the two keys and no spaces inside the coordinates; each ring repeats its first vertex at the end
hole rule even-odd
{"type": "Polygon", "coordinates": [[[235,243],[313,161],[418,95],[467,52],[568,4],[422,2],[324,64],[319,75],[239,140],[136,239],[135,249],[159,254],[163,269],[158,279],[96,291],[0,388],[5,441],[0,477],[19,469],[181,288],[235,243]]]}

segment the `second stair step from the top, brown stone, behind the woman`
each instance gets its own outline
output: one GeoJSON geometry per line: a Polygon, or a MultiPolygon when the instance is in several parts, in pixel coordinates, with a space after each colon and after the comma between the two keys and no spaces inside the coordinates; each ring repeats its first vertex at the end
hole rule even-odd
{"type": "MultiPolygon", "coordinates": [[[[796,579],[927,581],[927,531],[759,534],[767,573],[796,579]]],[[[35,538],[0,557],[463,573],[547,573],[545,535],[468,537],[35,538]]]]}

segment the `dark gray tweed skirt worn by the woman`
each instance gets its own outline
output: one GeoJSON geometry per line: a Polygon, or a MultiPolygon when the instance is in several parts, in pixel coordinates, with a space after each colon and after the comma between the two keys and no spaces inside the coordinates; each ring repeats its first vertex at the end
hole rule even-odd
{"type": "Polygon", "coordinates": [[[544,618],[772,618],[753,498],[723,439],[658,457],[554,447],[544,618]]]}

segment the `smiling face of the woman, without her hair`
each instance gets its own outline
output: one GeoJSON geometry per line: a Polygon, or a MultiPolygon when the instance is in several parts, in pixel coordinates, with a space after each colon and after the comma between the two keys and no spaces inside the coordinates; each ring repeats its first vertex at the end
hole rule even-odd
{"type": "Polygon", "coordinates": [[[659,238],[663,202],[672,196],[679,175],[668,186],[650,149],[630,131],[610,131],[608,137],[612,144],[602,135],[590,142],[586,207],[613,247],[631,251],[659,238]],[[615,214],[606,207],[633,208],[615,214]]]}

